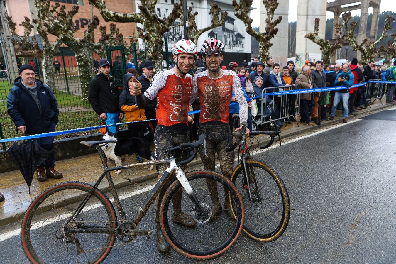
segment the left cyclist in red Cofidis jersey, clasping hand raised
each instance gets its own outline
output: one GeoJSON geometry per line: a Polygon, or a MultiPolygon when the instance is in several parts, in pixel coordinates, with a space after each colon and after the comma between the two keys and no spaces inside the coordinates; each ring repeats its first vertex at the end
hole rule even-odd
{"type": "MultiPolygon", "coordinates": [[[[150,87],[141,94],[141,84],[136,79],[134,85],[129,86],[129,93],[136,96],[136,104],[139,108],[145,108],[146,102],[157,100],[156,120],[154,131],[154,158],[156,160],[169,158],[168,149],[179,144],[190,142],[190,130],[188,129],[188,102],[191,97],[192,77],[188,72],[194,64],[197,54],[196,46],[190,40],[179,40],[173,47],[173,60],[176,66],[170,70],[158,72],[152,79],[150,87]]],[[[134,77],[132,77],[134,78],[134,77]]],[[[188,153],[175,153],[178,159],[185,160],[188,153]]],[[[168,165],[158,164],[158,178],[166,170],[168,165]]],[[[184,170],[186,166],[181,166],[184,170]]],[[[171,177],[175,177],[174,174],[171,177]]],[[[168,181],[169,183],[173,180],[168,181]]],[[[160,228],[160,197],[164,196],[168,186],[164,186],[155,200],[156,209],[156,236],[157,248],[160,252],[169,250],[160,228]]],[[[181,210],[181,188],[179,193],[172,198],[173,222],[187,227],[195,226],[196,221],[181,210]]]]}

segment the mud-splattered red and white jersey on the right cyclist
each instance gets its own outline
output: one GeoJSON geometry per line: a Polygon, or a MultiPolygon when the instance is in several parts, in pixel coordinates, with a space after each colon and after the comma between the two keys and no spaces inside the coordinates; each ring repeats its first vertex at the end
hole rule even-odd
{"type": "Polygon", "coordinates": [[[223,70],[223,75],[219,78],[212,79],[207,75],[208,71],[195,74],[192,79],[192,93],[190,104],[198,96],[200,99],[200,122],[220,121],[229,122],[228,110],[232,91],[234,91],[236,100],[240,106],[240,121],[247,122],[247,103],[244,92],[242,91],[241,82],[236,72],[232,70],[223,70]]]}

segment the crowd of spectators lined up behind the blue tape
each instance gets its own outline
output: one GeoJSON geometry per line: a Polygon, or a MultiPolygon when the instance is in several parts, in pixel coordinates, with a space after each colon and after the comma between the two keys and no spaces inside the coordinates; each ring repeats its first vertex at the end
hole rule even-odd
{"type": "MultiPolygon", "coordinates": [[[[133,63],[133,58],[126,63],[126,74],[123,75],[121,57],[117,56],[116,60],[110,64],[107,59],[94,59],[94,69],[97,75],[89,84],[88,100],[93,110],[99,116],[102,124],[114,124],[122,122],[124,117],[126,122],[152,120],[150,122],[139,122],[128,124],[128,137],[141,137],[150,141],[150,131],[154,131],[157,121],[156,119],[156,100],[147,103],[145,108],[137,107],[136,99],[129,94],[129,85],[134,76],[142,85],[142,93],[144,93],[150,86],[154,77],[154,65],[151,61],[142,61],[141,57],[137,58],[137,65],[133,63]],[[110,75],[110,67],[112,67],[112,75],[110,75]],[[137,69],[141,70],[139,75],[137,69]]],[[[225,64],[225,63],[223,63],[225,64]]],[[[372,104],[366,98],[373,98],[373,91],[368,91],[371,94],[366,94],[366,86],[352,87],[354,84],[367,82],[369,80],[383,80],[395,81],[396,76],[396,61],[391,66],[381,68],[374,65],[374,61],[369,61],[367,65],[358,63],[357,59],[352,59],[349,63],[331,63],[325,65],[322,61],[312,63],[305,62],[305,66],[301,72],[297,72],[293,61],[288,61],[286,65],[274,63],[272,57],[268,57],[265,62],[259,61],[257,57],[250,63],[244,60],[240,65],[236,62],[228,63],[221,69],[228,69],[235,71],[238,74],[244,95],[248,102],[248,120],[247,125],[252,130],[252,124],[255,122],[255,116],[265,115],[271,116],[276,120],[276,123],[281,127],[282,122],[297,122],[295,119],[296,96],[289,96],[286,100],[282,99],[282,95],[268,95],[259,97],[265,89],[265,93],[272,93],[277,91],[284,91],[298,85],[298,89],[314,89],[322,87],[345,86],[345,89],[337,91],[321,91],[312,93],[302,93],[299,101],[300,122],[306,123],[309,126],[319,124],[320,121],[333,120],[336,116],[336,110],[343,110],[343,122],[347,122],[350,114],[356,115],[358,111],[367,108],[372,104]],[[259,97],[251,100],[253,97],[259,97]],[[283,100],[283,101],[282,101],[283,100]],[[260,102],[265,102],[269,109],[257,107],[260,102]],[[286,109],[293,112],[293,117],[281,119],[284,117],[286,109]]],[[[175,66],[174,62],[169,59],[170,68],[175,66]]],[[[1,66],[1,65],[0,65],[1,66]]],[[[53,66],[55,73],[60,74],[61,63],[54,60],[53,66]]],[[[194,66],[190,73],[194,75],[196,71],[205,70],[204,63],[199,56],[196,56],[194,66]]],[[[197,72],[198,72],[197,71],[197,72]]],[[[20,77],[14,87],[11,88],[10,95],[7,98],[8,112],[11,119],[15,122],[17,129],[22,133],[36,134],[55,131],[57,123],[57,103],[53,97],[51,90],[42,82],[35,80],[35,67],[30,63],[23,65],[19,69],[20,77]],[[45,91],[47,97],[38,96],[38,92],[45,91]],[[25,93],[21,91],[28,91],[29,97],[23,98],[25,93]],[[29,99],[29,100],[28,100],[29,99]],[[24,102],[21,104],[21,102],[24,102]],[[36,104],[40,114],[34,115],[32,118],[31,111],[26,111],[29,104],[36,104]],[[49,112],[47,117],[42,113],[49,112]],[[30,116],[30,117],[29,117],[30,116]],[[26,122],[33,120],[33,122],[26,122]]],[[[395,103],[396,100],[396,85],[395,84],[381,84],[381,96],[386,93],[386,103],[395,103]],[[386,91],[385,91],[386,87],[386,91]]],[[[199,99],[197,98],[190,110],[199,109],[199,99]]],[[[239,113],[239,104],[234,94],[232,94],[229,108],[229,125],[230,130],[238,128],[238,118],[235,114],[239,113]]],[[[190,135],[191,141],[198,139],[197,130],[199,124],[198,115],[191,115],[190,121],[190,135]]],[[[102,133],[109,133],[117,137],[118,127],[112,126],[102,130],[102,133]]],[[[43,148],[53,148],[53,137],[38,140],[43,148]],[[45,139],[45,140],[44,140],[45,139]]],[[[141,157],[137,156],[137,162],[143,161],[141,157]]],[[[51,156],[46,160],[37,170],[38,180],[44,181],[47,178],[60,179],[62,173],[55,170],[55,160],[51,156]]],[[[0,194],[0,201],[2,198],[0,194]]]]}

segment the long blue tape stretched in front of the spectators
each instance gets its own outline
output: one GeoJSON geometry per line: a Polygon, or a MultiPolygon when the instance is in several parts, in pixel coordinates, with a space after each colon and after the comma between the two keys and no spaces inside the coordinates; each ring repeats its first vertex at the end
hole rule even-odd
{"type": "MultiPolygon", "coordinates": [[[[337,91],[337,90],[343,90],[343,89],[348,89],[348,88],[355,88],[355,87],[360,87],[364,86],[367,83],[381,83],[381,84],[396,84],[396,81],[368,81],[368,82],[362,82],[360,84],[354,84],[351,87],[346,87],[346,86],[332,86],[332,87],[324,87],[324,88],[313,88],[313,89],[298,89],[298,90],[288,90],[288,91],[278,91],[274,93],[265,93],[256,97],[252,97],[248,99],[248,101],[256,99],[256,98],[262,98],[266,95],[287,95],[287,94],[298,94],[298,93],[316,93],[316,92],[322,92],[322,91],[337,91]]],[[[276,88],[276,87],[274,87],[276,88]]],[[[231,103],[230,106],[234,106],[237,103],[231,103]]],[[[200,113],[200,110],[195,110],[195,111],[190,111],[188,114],[198,114],[200,113]]],[[[26,139],[36,139],[40,137],[49,137],[49,136],[57,136],[57,135],[65,135],[65,134],[71,134],[71,133],[78,133],[78,132],[83,132],[83,131],[89,131],[89,130],[95,130],[99,129],[102,127],[111,127],[113,125],[124,125],[124,124],[129,124],[129,123],[138,123],[138,122],[148,122],[148,121],[153,121],[155,119],[149,119],[149,120],[142,120],[142,121],[133,121],[133,122],[125,122],[125,123],[116,123],[116,124],[109,124],[109,125],[97,125],[93,127],[82,127],[82,128],[76,128],[76,129],[67,129],[67,130],[62,130],[62,131],[55,131],[55,132],[49,132],[49,133],[42,133],[42,134],[36,134],[36,135],[29,135],[29,136],[23,136],[23,137],[14,137],[11,139],[0,139],[0,143],[2,142],[12,142],[12,141],[19,141],[19,140],[26,140],[26,139]]]]}

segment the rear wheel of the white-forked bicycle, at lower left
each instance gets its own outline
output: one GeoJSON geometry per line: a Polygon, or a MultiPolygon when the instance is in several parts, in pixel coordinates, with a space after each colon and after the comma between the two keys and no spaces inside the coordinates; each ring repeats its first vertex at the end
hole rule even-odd
{"type": "Polygon", "coordinates": [[[116,239],[117,218],[101,190],[93,189],[82,211],[65,225],[91,189],[84,182],[62,182],[32,201],[21,226],[22,247],[30,262],[100,263],[106,258],[116,239]],[[93,227],[108,228],[109,232],[90,233],[89,228],[93,227]],[[65,234],[68,228],[86,233],[65,234]]]}

